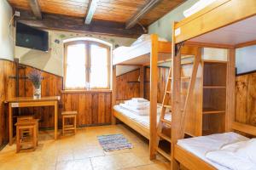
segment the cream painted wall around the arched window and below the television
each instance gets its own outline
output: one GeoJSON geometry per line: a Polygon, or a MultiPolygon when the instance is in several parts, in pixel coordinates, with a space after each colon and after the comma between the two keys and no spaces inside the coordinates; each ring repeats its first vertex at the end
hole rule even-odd
{"type": "MultiPolygon", "coordinates": [[[[75,37],[89,37],[100,39],[104,42],[109,42],[113,45],[130,46],[135,41],[133,38],[125,37],[109,37],[95,34],[66,32],[66,31],[49,31],[49,52],[43,52],[30,48],[21,48],[15,46],[15,58],[20,59],[21,64],[30,65],[43,71],[48,71],[58,76],[63,76],[63,57],[64,44],[63,42],[75,37]]],[[[130,69],[117,69],[119,74],[130,69]]]]}

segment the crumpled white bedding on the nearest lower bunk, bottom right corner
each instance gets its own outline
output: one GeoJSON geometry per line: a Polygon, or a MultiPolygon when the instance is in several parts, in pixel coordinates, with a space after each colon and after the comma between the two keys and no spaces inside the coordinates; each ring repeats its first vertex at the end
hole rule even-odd
{"type": "Polygon", "coordinates": [[[207,152],[207,159],[232,170],[256,169],[256,139],[226,144],[207,152]]]}

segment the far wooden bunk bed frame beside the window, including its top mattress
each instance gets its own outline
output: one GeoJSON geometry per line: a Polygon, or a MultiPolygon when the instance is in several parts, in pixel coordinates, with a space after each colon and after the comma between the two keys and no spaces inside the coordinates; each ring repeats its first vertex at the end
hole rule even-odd
{"type": "MultiPolygon", "coordinates": [[[[124,56],[124,59],[113,61],[113,82],[112,82],[112,108],[116,104],[116,66],[117,65],[130,65],[140,66],[140,97],[143,97],[144,91],[144,66],[150,65],[150,120],[149,131],[147,127],[133,121],[119,111],[112,110],[112,124],[116,124],[116,118],[124,122],[129,127],[142,134],[145,138],[149,139],[150,159],[155,158],[155,145],[156,145],[156,127],[157,127],[157,84],[158,84],[158,64],[172,59],[172,42],[160,42],[156,34],[151,35],[151,44],[143,42],[137,48],[132,48],[124,56]],[[143,45],[144,44],[144,45],[143,45]],[[159,57],[161,55],[161,57],[159,57]]],[[[181,54],[196,55],[197,48],[195,45],[184,46],[181,54]]]]}

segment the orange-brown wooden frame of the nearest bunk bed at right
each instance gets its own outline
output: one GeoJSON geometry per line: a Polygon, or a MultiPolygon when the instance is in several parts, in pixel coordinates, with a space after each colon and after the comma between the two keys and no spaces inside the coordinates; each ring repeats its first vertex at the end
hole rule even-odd
{"type": "MultiPolygon", "coordinates": [[[[172,49],[176,49],[175,47],[181,42],[193,42],[193,39],[198,39],[198,37],[203,40],[204,36],[206,36],[208,33],[218,31],[225,26],[231,26],[232,24],[236,24],[239,21],[247,20],[255,16],[255,0],[218,0],[215,3],[207,6],[207,8],[202,9],[198,13],[193,14],[178,23],[174,23],[172,27],[172,32],[174,32],[172,34],[172,49]]],[[[216,38],[222,39],[223,37],[216,38]]],[[[229,48],[229,86],[227,87],[226,91],[227,95],[229,96],[229,101],[227,101],[228,105],[226,108],[228,116],[225,120],[225,131],[229,132],[236,130],[241,133],[248,133],[256,136],[256,127],[241,122],[236,122],[235,119],[236,48],[255,45],[256,41],[250,40],[248,42],[239,42],[239,44],[234,44],[234,42],[230,42],[229,44],[214,44],[211,41],[206,41],[199,42],[198,44],[216,48],[229,48]]],[[[181,93],[179,88],[181,77],[178,74],[178,71],[180,71],[180,53],[178,51],[174,51],[172,53],[172,60],[173,79],[174,82],[176,82],[172,83],[172,89],[174,90],[173,94],[175,94],[172,96],[174,98],[173,100],[175,100],[173,103],[172,111],[177,113],[181,109],[180,99],[178,97],[181,93]]],[[[184,114],[186,113],[184,112],[184,114]]],[[[215,167],[212,167],[212,165],[202,161],[199,157],[191,154],[189,151],[184,150],[182,147],[177,145],[177,139],[183,139],[184,136],[184,117],[185,115],[182,114],[175,114],[172,116],[172,148],[174,148],[174,150],[172,150],[172,170],[179,169],[180,165],[183,165],[183,167],[191,170],[216,169],[215,167]]]]}

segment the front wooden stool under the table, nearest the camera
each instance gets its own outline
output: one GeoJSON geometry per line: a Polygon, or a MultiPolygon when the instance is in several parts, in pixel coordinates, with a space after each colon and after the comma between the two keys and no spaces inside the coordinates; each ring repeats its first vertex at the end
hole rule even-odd
{"type": "Polygon", "coordinates": [[[16,126],[16,151],[19,152],[22,146],[30,146],[26,149],[36,150],[38,146],[38,119],[20,120],[16,126]],[[27,130],[28,136],[22,136],[22,131],[27,130]]]}

